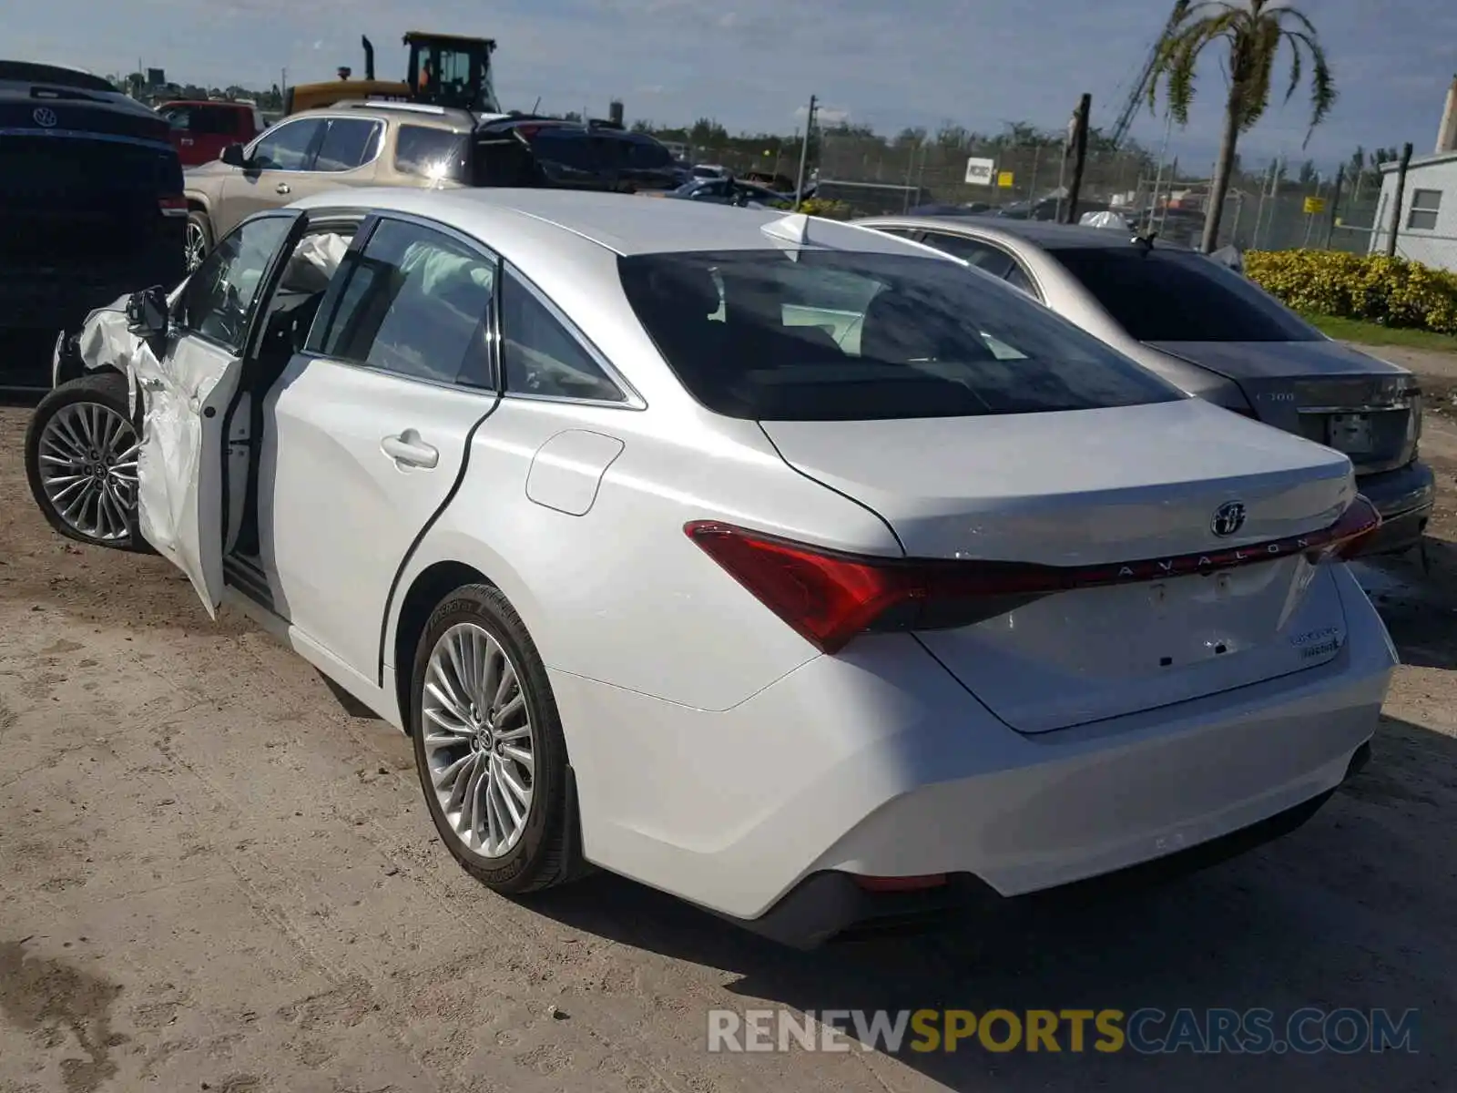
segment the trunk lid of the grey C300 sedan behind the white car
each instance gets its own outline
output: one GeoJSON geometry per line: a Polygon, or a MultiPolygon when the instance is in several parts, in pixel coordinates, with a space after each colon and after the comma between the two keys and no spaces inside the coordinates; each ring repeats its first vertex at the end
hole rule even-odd
{"type": "Polygon", "coordinates": [[[1327,340],[1147,345],[1234,380],[1262,421],[1343,452],[1358,475],[1416,458],[1419,395],[1396,364],[1327,340]]]}

